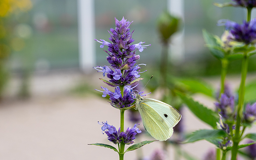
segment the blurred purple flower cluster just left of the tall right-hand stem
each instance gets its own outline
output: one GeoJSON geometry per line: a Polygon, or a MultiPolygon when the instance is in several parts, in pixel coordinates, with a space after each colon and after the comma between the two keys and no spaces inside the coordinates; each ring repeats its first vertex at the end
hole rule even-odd
{"type": "Polygon", "coordinates": [[[226,120],[231,118],[234,114],[234,96],[227,97],[226,94],[222,94],[220,101],[216,102],[215,106],[223,118],[226,120]]]}

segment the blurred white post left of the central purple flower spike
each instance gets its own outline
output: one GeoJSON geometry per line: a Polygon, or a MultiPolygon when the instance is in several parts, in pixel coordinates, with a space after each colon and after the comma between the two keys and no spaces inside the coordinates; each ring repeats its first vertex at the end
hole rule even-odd
{"type": "Polygon", "coordinates": [[[95,15],[94,0],[77,0],[79,67],[89,73],[95,66],[95,15]]]}

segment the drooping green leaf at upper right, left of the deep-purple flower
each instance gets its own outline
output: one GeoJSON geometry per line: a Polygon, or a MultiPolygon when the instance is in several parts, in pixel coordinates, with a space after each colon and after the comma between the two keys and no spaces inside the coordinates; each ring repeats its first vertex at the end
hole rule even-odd
{"type": "MultiPolygon", "coordinates": [[[[203,37],[205,39],[205,43],[210,46],[216,46],[221,47],[220,44],[218,44],[216,38],[214,38],[214,35],[208,33],[205,29],[203,30],[203,37]]],[[[213,56],[215,56],[218,59],[224,58],[223,51],[220,51],[219,49],[209,47],[209,50],[213,56]]]]}

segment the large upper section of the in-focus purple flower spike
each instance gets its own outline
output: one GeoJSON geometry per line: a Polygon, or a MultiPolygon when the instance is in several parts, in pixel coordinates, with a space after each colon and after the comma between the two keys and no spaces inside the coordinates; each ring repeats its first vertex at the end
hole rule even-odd
{"type": "MultiPolygon", "coordinates": [[[[130,85],[132,81],[136,78],[140,77],[139,72],[140,67],[135,65],[136,61],[140,58],[139,55],[136,55],[136,50],[138,49],[140,52],[146,48],[146,46],[150,45],[142,45],[145,42],[139,42],[138,44],[131,45],[134,42],[131,37],[132,32],[128,28],[131,22],[127,21],[124,17],[121,21],[118,21],[115,18],[115,29],[111,28],[109,31],[110,42],[105,40],[97,40],[97,42],[101,43],[101,48],[105,45],[108,46],[107,51],[105,51],[107,56],[107,61],[110,63],[113,69],[109,67],[94,67],[98,72],[103,72],[103,76],[107,76],[109,78],[109,82],[107,83],[109,86],[125,86],[130,85]]],[[[145,72],[145,71],[144,71],[145,72]]]]}

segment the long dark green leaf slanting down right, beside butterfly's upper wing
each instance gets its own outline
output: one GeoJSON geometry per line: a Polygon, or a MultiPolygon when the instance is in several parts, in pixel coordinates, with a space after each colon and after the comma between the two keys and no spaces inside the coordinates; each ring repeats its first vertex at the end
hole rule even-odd
{"type": "Polygon", "coordinates": [[[216,113],[211,109],[194,101],[191,97],[186,96],[184,93],[175,91],[175,93],[182,99],[182,101],[188,106],[188,108],[202,121],[209,124],[211,127],[216,127],[218,118],[216,113]],[[216,116],[215,116],[216,115],[216,116]]]}

